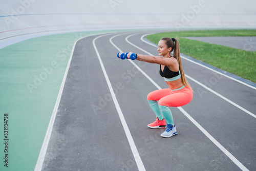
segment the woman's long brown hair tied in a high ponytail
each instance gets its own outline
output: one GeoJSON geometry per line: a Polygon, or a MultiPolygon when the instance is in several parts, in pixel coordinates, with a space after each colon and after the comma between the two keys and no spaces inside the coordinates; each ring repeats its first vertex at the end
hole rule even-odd
{"type": "MultiPolygon", "coordinates": [[[[184,70],[182,67],[182,62],[181,62],[181,57],[180,57],[180,44],[179,44],[178,38],[163,37],[163,38],[161,38],[161,40],[165,40],[167,47],[172,48],[172,51],[174,51],[174,57],[177,59],[177,61],[179,63],[179,69],[180,69],[182,83],[186,87],[188,87],[190,90],[192,90],[190,84],[187,81],[187,78],[184,74],[184,70]]],[[[172,52],[172,51],[170,51],[170,52],[172,52]]]]}

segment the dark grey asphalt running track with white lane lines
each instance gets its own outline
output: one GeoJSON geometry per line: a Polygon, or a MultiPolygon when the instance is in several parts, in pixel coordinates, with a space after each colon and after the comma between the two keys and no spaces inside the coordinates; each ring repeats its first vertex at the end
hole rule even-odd
{"type": "MultiPolygon", "coordinates": [[[[170,108],[178,135],[149,129],[146,96],[167,88],[159,65],[121,60],[119,50],[158,55],[149,32],[77,41],[38,170],[255,170],[256,89],[182,58],[193,100],[170,108]]],[[[182,48],[182,47],[181,47],[182,48]]]]}

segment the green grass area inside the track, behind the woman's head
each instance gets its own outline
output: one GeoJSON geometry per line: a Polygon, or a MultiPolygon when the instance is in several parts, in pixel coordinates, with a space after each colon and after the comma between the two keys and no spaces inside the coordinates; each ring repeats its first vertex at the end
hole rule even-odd
{"type": "Polygon", "coordinates": [[[148,35],[147,39],[158,44],[162,37],[179,37],[181,53],[220,68],[229,73],[256,82],[256,52],[234,49],[183,36],[256,36],[255,30],[203,30],[166,32],[148,35]]]}

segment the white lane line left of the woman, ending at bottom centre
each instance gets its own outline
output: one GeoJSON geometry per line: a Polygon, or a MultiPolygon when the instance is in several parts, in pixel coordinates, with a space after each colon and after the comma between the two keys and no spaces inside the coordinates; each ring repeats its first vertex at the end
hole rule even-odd
{"type": "Polygon", "coordinates": [[[101,68],[102,68],[102,71],[103,71],[103,74],[104,74],[104,76],[105,76],[106,82],[108,83],[111,96],[112,96],[112,98],[113,98],[113,101],[114,101],[115,106],[116,106],[116,110],[117,110],[118,115],[119,115],[119,117],[120,117],[120,120],[121,120],[121,122],[122,122],[124,132],[125,132],[126,137],[127,137],[128,141],[129,141],[129,144],[130,144],[130,146],[131,146],[131,149],[132,149],[133,156],[134,156],[134,158],[135,158],[136,164],[137,164],[137,166],[138,166],[138,169],[142,171],[142,170],[145,170],[145,167],[144,167],[144,165],[143,165],[143,163],[142,163],[142,160],[141,160],[141,158],[140,158],[139,152],[138,152],[137,147],[136,147],[136,145],[135,145],[135,143],[134,143],[133,137],[132,137],[132,135],[131,135],[131,133],[130,133],[129,127],[128,127],[128,125],[127,125],[125,119],[124,119],[123,113],[122,113],[121,108],[120,108],[120,106],[119,106],[119,103],[118,103],[118,101],[117,101],[117,99],[116,99],[116,95],[115,95],[114,90],[113,90],[113,88],[112,88],[112,85],[111,85],[109,76],[108,76],[108,74],[106,73],[106,70],[105,70],[105,68],[104,68],[103,62],[102,62],[101,57],[100,57],[100,55],[99,55],[98,49],[97,49],[97,47],[96,47],[96,45],[95,45],[95,40],[98,39],[98,38],[100,38],[100,37],[102,37],[102,36],[105,36],[105,35],[98,36],[98,37],[96,37],[96,38],[93,40],[93,47],[94,47],[95,52],[96,52],[96,54],[97,54],[97,56],[98,56],[98,59],[99,59],[99,62],[100,62],[100,66],[101,66],[101,68]]]}

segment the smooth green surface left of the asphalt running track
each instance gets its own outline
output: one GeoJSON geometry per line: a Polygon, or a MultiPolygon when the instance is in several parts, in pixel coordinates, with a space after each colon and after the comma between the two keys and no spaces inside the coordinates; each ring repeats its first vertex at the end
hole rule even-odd
{"type": "Polygon", "coordinates": [[[34,170],[74,42],[105,32],[109,31],[48,35],[0,49],[0,170],[34,170]],[[4,139],[9,139],[8,153],[4,139]]]}

